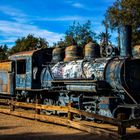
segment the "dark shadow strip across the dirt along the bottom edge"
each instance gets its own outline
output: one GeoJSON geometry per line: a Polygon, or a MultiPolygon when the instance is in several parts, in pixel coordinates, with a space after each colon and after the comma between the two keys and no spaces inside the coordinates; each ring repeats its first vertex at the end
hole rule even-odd
{"type": "Polygon", "coordinates": [[[55,135],[50,133],[22,133],[0,135],[0,140],[108,140],[108,138],[93,134],[55,135]]]}

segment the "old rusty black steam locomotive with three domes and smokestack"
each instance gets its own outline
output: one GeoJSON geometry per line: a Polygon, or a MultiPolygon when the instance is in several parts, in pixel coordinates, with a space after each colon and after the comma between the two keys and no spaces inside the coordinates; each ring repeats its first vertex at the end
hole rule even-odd
{"type": "MultiPolygon", "coordinates": [[[[30,103],[38,97],[45,105],[71,102],[75,108],[111,118],[122,112],[128,119],[139,117],[140,59],[132,57],[131,27],[124,29],[120,56],[101,57],[101,49],[88,43],[84,58],[78,57],[75,45],[67,47],[65,55],[59,47],[11,55],[0,63],[0,95],[30,103]]],[[[111,54],[112,49],[106,51],[111,54]]]]}

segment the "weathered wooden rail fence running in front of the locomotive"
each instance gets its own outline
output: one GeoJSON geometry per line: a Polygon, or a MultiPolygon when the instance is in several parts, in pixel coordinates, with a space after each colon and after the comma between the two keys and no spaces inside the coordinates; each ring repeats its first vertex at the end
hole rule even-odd
{"type": "MultiPolygon", "coordinates": [[[[0,100],[0,102],[5,103],[6,101],[0,100]]],[[[87,131],[89,133],[103,133],[103,134],[111,135],[112,137],[114,137],[114,139],[115,138],[125,139],[127,137],[126,128],[131,125],[140,124],[140,118],[133,119],[133,120],[124,120],[123,114],[120,114],[120,117],[118,119],[108,118],[105,116],[101,116],[98,114],[89,113],[83,110],[78,110],[76,108],[73,108],[71,103],[69,103],[68,106],[48,106],[48,105],[41,105],[37,103],[24,103],[24,102],[16,102],[13,100],[7,100],[7,104],[11,106],[11,109],[10,110],[0,109],[0,112],[16,115],[20,117],[25,117],[25,118],[35,119],[35,120],[47,121],[55,124],[65,125],[68,127],[73,127],[83,131],[87,131]],[[20,112],[20,111],[16,111],[17,107],[30,108],[30,109],[34,109],[35,111],[34,113],[20,112]],[[50,116],[42,115],[40,113],[41,110],[65,112],[67,114],[67,118],[55,117],[53,115],[50,116]],[[117,133],[111,131],[109,132],[108,130],[97,128],[96,126],[93,125],[90,126],[89,123],[82,123],[82,121],[74,121],[73,120],[74,114],[78,114],[81,116],[94,118],[94,119],[104,121],[106,123],[110,123],[117,127],[117,133]]]]}

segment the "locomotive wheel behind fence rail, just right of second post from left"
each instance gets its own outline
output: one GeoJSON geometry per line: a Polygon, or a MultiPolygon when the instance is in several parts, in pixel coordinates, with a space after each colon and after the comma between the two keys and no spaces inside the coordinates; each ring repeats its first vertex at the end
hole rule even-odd
{"type": "MultiPolygon", "coordinates": [[[[53,105],[53,100],[52,99],[44,99],[43,101],[43,105],[53,105]]],[[[52,110],[42,110],[42,112],[46,115],[52,115],[54,113],[54,111],[52,110]]]]}

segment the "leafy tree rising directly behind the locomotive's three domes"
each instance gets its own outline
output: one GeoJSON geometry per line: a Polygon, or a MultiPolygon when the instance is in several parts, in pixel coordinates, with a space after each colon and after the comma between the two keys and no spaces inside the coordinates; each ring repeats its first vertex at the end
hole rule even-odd
{"type": "Polygon", "coordinates": [[[93,40],[95,35],[96,34],[91,30],[90,21],[87,21],[83,25],[74,21],[66,31],[64,42],[66,46],[77,44],[78,46],[83,47],[89,40],[93,40]]]}

